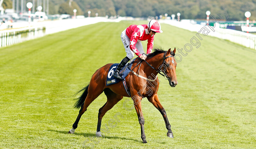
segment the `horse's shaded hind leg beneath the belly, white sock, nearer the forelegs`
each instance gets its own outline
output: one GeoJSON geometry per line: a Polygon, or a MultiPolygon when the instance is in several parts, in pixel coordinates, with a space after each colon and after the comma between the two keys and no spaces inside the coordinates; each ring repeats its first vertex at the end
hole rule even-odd
{"type": "Polygon", "coordinates": [[[98,136],[100,136],[100,137],[101,137],[100,130],[101,130],[101,120],[102,120],[102,117],[105,115],[105,113],[108,110],[112,109],[113,106],[115,106],[117,102],[119,102],[121,99],[123,99],[123,96],[117,95],[116,93],[112,92],[109,88],[105,88],[104,89],[104,93],[107,96],[107,102],[105,103],[104,106],[102,106],[99,109],[98,125],[97,125],[97,132],[96,132],[96,134],[98,136]]]}

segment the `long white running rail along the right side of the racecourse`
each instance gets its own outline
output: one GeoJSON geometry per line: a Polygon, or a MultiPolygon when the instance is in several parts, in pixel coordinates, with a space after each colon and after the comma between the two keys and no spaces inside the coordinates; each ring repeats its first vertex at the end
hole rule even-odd
{"type": "Polygon", "coordinates": [[[176,26],[179,28],[187,29],[192,32],[199,32],[208,29],[208,36],[214,36],[220,39],[229,40],[233,43],[237,43],[243,45],[245,47],[249,47],[251,49],[256,50],[256,35],[245,33],[233,29],[222,29],[219,28],[219,23],[215,23],[214,26],[204,26],[199,24],[192,24],[188,21],[172,21],[172,20],[161,20],[161,23],[170,24],[172,26],[176,26]]]}

